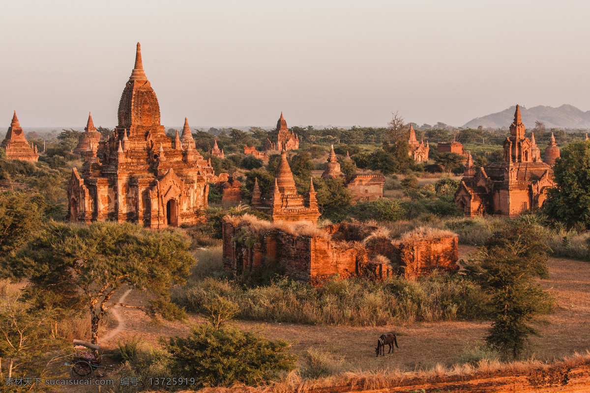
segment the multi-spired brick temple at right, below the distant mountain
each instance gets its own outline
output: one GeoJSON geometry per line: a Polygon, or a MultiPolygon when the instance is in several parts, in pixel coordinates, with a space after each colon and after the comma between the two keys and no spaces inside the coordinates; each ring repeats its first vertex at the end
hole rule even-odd
{"type": "MultiPolygon", "coordinates": [[[[549,153],[549,162],[559,157],[555,138],[545,152],[546,160],[549,153]]],[[[520,107],[516,105],[510,137],[504,141],[502,162],[477,170],[471,155],[468,156],[464,177],[455,193],[455,204],[467,217],[478,214],[516,217],[525,210],[541,207],[547,190],[553,186],[553,170],[541,161],[535,135],[531,139],[525,137],[520,107]]]]}

